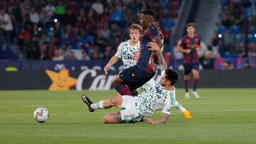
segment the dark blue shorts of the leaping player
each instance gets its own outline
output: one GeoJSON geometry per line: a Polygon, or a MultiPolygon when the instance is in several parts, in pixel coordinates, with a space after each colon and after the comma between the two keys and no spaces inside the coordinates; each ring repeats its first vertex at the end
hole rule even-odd
{"type": "Polygon", "coordinates": [[[155,72],[146,72],[139,69],[137,65],[134,65],[120,72],[119,77],[129,88],[136,90],[154,77],[154,74],[155,72]]]}

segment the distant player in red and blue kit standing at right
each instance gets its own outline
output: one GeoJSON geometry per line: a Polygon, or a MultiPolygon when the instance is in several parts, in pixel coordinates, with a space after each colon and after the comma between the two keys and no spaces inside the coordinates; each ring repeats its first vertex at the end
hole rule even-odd
{"type": "Polygon", "coordinates": [[[185,98],[189,98],[188,93],[188,81],[190,79],[189,74],[193,73],[193,96],[200,98],[196,92],[196,87],[199,80],[199,60],[197,52],[200,49],[200,38],[195,34],[196,24],[188,23],[186,26],[187,35],[178,42],[178,52],[183,52],[183,74],[184,74],[184,86],[185,86],[185,98]]]}

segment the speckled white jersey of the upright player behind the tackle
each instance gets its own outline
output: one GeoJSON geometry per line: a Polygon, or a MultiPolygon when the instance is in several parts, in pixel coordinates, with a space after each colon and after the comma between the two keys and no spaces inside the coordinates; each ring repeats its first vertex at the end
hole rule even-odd
{"type": "Polygon", "coordinates": [[[139,46],[140,43],[132,47],[129,45],[129,40],[120,43],[117,48],[117,52],[114,56],[122,58],[122,62],[124,63],[124,69],[132,67],[137,64],[137,60],[133,59],[133,56],[139,54],[139,46]]]}

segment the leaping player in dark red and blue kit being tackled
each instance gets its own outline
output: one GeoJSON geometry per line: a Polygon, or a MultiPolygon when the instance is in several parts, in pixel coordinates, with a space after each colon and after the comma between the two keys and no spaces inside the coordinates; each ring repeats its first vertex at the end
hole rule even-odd
{"type": "Polygon", "coordinates": [[[154,77],[155,67],[151,67],[151,64],[154,63],[154,59],[151,57],[153,57],[154,54],[157,55],[161,68],[166,65],[161,50],[149,50],[149,47],[146,46],[149,42],[156,43],[159,48],[164,45],[164,37],[160,29],[154,23],[154,16],[154,11],[142,11],[140,23],[142,28],[146,30],[142,33],[140,40],[139,60],[137,61],[137,65],[120,72],[117,78],[112,82],[114,89],[121,95],[130,95],[137,88],[142,87],[143,84],[154,77]]]}

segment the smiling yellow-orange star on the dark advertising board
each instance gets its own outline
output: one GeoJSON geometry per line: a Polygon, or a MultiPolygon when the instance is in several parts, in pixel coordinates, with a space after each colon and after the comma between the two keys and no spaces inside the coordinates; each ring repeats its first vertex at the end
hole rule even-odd
{"type": "Polygon", "coordinates": [[[77,82],[77,79],[69,76],[68,70],[60,70],[60,72],[46,70],[46,74],[53,81],[48,89],[50,91],[68,91],[77,82]]]}

